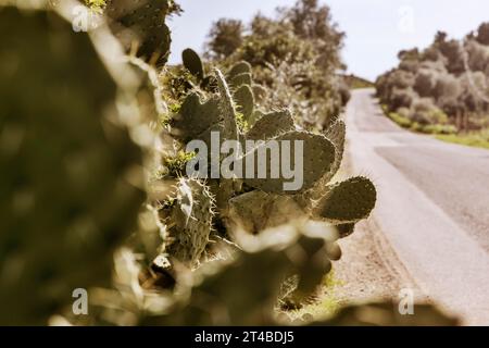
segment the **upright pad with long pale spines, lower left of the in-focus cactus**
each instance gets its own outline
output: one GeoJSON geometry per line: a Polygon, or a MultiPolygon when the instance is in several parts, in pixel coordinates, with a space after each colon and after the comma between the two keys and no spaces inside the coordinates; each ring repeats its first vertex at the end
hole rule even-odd
{"type": "Polygon", "coordinates": [[[214,198],[200,181],[181,178],[176,197],[168,204],[161,212],[168,226],[165,251],[187,266],[196,268],[209,243],[214,198]]]}

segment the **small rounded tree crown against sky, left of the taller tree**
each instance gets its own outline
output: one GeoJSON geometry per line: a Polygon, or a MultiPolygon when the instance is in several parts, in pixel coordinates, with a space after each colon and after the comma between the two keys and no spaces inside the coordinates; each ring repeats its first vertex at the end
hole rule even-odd
{"type": "Polygon", "coordinates": [[[208,53],[223,60],[231,55],[243,41],[244,26],[239,20],[221,18],[214,22],[209,34],[208,53]]]}

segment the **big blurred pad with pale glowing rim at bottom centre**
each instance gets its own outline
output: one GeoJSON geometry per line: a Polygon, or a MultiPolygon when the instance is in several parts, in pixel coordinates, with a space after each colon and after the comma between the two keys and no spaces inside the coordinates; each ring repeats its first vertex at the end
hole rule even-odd
{"type": "Polygon", "coordinates": [[[314,289],[330,270],[326,245],[335,232],[324,225],[292,224],[258,238],[249,246],[244,243],[230,260],[204,264],[195,274],[189,302],[167,315],[147,318],[142,324],[276,324],[281,283],[298,274],[304,294],[314,289]],[[202,301],[206,304],[199,304],[202,301]]]}

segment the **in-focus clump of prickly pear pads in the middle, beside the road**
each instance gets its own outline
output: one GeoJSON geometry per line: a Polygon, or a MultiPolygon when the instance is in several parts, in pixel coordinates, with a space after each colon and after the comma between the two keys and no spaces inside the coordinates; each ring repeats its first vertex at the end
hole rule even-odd
{"type": "MultiPolygon", "coordinates": [[[[187,54],[198,61],[195,52],[187,54]]],[[[233,87],[236,77],[243,74],[251,76],[247,63],[233,66],[226,77],[216,70],[214,75],[218,85],[217,94],[202,90],[190,92],[174,116],[173,134],[184,145],[201,139],[209,148],[211,132],[218,132],[222,140],[238,138],[242,145],[246,140],[262,140],[263,146],[271,140],[302,140],[303,185],[298,190],[285,191],[284,177],[260,178],[258,173],[251,178],[234,181],[238,185],[224,179],[217,179],[217,184],[213,184],[211,179],[210,186],[217,197],[220,209],[217,219],[223,220],[230,229],[239,226],[246,227],[250,233],[259,233],[263,228],[296,219],[328,221],[341,225],[341,228],[349,225],[352,231],[351,224],[368,216],[375,206],[376,194],[373,184],[362,177],[329,185],[341,164],[344,123],[341,120],[331,122],[323,134],[301,130],[289,111],[267,112],[253,105],[254,96],[249,87],[252,83],[246,83],[237,89],[233,87]],[[250,116],[260,116],[248,132],[237,126],[238,110],[246,110],[246,121],[249,122],[254,121],[250,116]],[[348,207],[348,212],[342,211],[341,207],[348,207]]],[[[248,157],[255,157],[262,150],[261,146],[256,146],[242,160],[246,162],[248,157]]],[[[293,158],[293,151],[291,154],[293,158]]],[[[273,165],[269,156],[266,164],[269,174],[273,165]]]]}

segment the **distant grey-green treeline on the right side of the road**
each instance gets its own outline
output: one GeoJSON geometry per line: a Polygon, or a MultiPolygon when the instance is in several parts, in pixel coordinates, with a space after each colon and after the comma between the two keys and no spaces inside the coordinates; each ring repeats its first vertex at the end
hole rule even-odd
{"type": "Polygon", "coordinates": [[[422,126],[488,126],[489,23],[462,40],[438,32],[428,48],[403,50],[398,57],[399,66],[376,82],[388,112],[422,126]]]}

